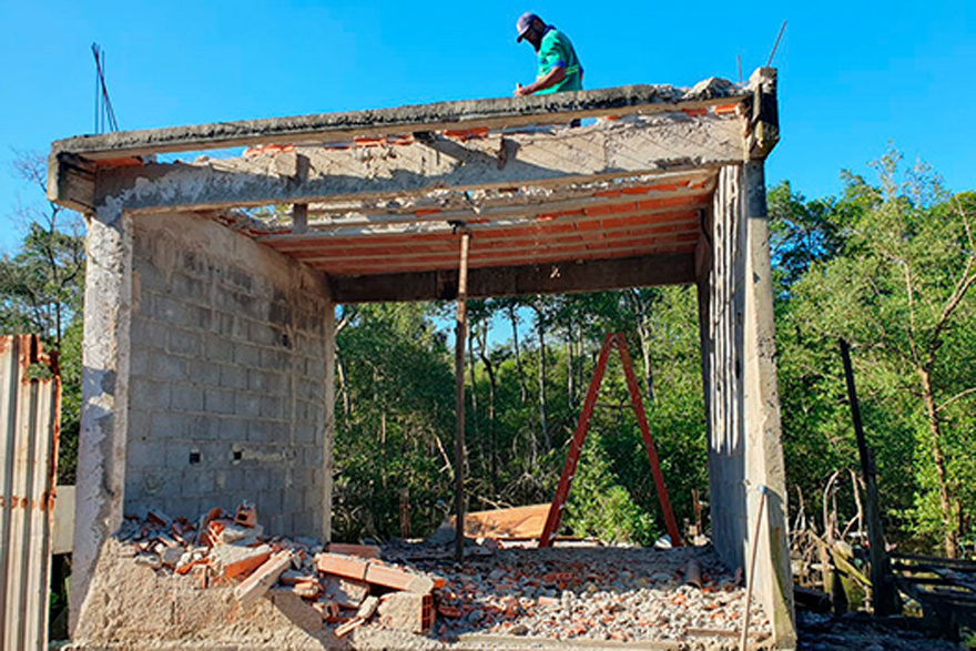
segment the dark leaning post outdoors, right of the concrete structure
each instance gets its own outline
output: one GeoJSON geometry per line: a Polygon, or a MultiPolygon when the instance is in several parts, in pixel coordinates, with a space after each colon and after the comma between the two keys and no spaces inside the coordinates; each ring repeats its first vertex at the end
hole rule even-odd
{"type": "Polygon", "coordinates": [[[891,568],[885,551],[884,530],[881,525],[881,507],[877,499],[877,471],[874,457],[864,438],[861,423],[861,407],[857,404],[857,390],[854,387],[854,370],[851,367],[851,348],[841,339],[841,356],[844,358],[844,377],[847,380],[847,398],[851,400],[851,417],[854,420],[854,433],[857,435],[857,452],[861,456],[861,471],[864,475],[867,499],[865,516],[867,518],[867,541],[871,558],[871,604],[874,614],[888,616],[898,611],[897,594],[889,581],[891,568]]]}

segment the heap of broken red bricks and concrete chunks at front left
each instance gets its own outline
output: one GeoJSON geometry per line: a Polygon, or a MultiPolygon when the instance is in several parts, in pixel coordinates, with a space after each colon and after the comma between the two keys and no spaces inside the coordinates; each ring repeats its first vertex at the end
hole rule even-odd
{"type": "Polygon", "coordinates": [[[267,537],[254,505],[246,501],[233,512],[211,509],[196,526],[157,510],[126,517],[119,539],[133,548],[136,563],[157,572],[196,572],[201,588],[234,586],[234,597],[245,609],[267,596],[292,621],[303,622],[302,628],[308,628],[314,614],[319,630],[335,625],[337,637],[377,611],[387,613],[380,613],[387,628],[428,632],[434,625],[433,591],[444,584],[443,579],[384,562],[376,546],[332,543],[324,551],[314,540],[267,537]],[[380,607],[400,594],[407,597],[380,607]]]}

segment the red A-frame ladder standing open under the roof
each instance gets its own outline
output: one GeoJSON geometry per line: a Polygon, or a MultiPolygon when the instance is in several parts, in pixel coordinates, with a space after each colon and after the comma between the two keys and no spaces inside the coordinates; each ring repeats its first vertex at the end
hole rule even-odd
{"type": "Polygon", "coordinates": [[[583,403],[583,409],[580,413],[576,433],[572,435],[569,454],[566,456],[562,476],[559,478],[559,488],[556,489],[556,497],[552,500],[552,506],[549,507],[549,516],[546,518],[546,527],[542,529],[542,536],[539,538],[539,547],[551,547],[552,541],[556,540],[556,531],[559,529],[559,522],[562,519],[566,498],[569,497],[569,487],[572,484],[573,475],[576,475],[576,467],[579,464],[580,451],[583,449],[583,441],[587,440],[587,431],[590,427],[590,418],[593,416],[593,407],[597,406],[597,394],[600,393],[600,384],[603,382],[603,373],[607,370],[610,350],[614,346],[620,354],[623,374],[627,377],[627,388],[630,391],[630,401],[634,414],[637,414],[637,421],[641,428],[641,436],[644,439],[644,448],[648,450],[648,460],[651,462],[651,472],[654,476],[658,499],[661,500],[661,511],[664,513],[664,526],[668,529],[668,536],[671,537],[671,543],[674,547],[681,547],[681,536],[678,533],[678,523],[674,521],[674,513],[671,511],[671,501],[668,499],[668,489],[664,487],[664,476],[661,474],[658,450],[654,447],[654,439],[651,438],[651,429],[648,426],[644,404],[641,399],[640,387],[637,384],[637,376],[633,374],[633,362],[630,358],[630,352],[627,349],[627,338],[623,336],[623,333],[610,333],[603,339],[600,358],[597,362],[597,368],[593,369],[593,379],[590,382],[590,389],[587,391],[587,399],[583,403]]]}

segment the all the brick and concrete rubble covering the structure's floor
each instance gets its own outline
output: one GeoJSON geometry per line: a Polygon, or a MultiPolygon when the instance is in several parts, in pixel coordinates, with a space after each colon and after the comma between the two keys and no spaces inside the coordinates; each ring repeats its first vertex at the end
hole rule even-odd
{"type": "MultiPolygon", "coordinates": [[[[241,609],[267,598],[292,622],[333,639],[362,629],[461,645],[520,637],[722,647],[739,630],[745,599],[741,574],[708,548],[505,549],[490,538],[466,539],[457,563],[449,527],[419,543],[325,547],[266,536],[247,502],[196,522],[159,511],[130,517],[118,539],[157,576],[232,588],[241,609]]],[[[770,623],[752,608],[752,639],[762,642],[770,623]]]]}

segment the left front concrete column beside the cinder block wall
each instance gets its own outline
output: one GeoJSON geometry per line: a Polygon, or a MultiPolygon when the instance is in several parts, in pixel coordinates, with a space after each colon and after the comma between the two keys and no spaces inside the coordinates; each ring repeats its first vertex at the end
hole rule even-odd
{"type": "Polygon", "coordinates": [[[132,317],[132,228],[110,203],[85,240],[81,435],[69,627],[73,632],[102,545],[122,523],[132,317]]]}

